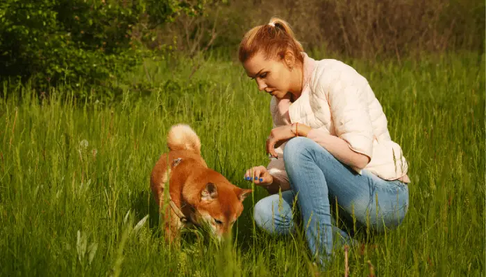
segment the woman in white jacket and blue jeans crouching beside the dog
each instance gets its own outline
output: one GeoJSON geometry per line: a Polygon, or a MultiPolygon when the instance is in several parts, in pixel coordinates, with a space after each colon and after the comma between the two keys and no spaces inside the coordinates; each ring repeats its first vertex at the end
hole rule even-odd
{"type": "Polygon", "coordinates": [[[408,164],[367,80],[340,61],[308,57],[278,18],[249,30],[239,57],[258,89],[272,96],[267,152],[273,158],[245,174],[271,194],[255,205],[258,226],[294,231],[296,197],[308,246],[322,263],[333,236],[351,240],[333,224],[335,202],[358,226],[383,231],[399,225],[408,210],[408,164]]]}

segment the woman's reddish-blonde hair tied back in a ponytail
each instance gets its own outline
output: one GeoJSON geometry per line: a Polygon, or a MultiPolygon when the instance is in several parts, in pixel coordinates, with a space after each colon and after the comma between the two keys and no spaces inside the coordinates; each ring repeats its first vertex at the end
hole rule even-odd
{"type": "Polygon", "coordinates": [[[278,17],[272,17],[269,24],[260,25],[249,30],[240,44],[240,62],[246,62],[257,53],[262,53],[265,59],[285,57],[286,51],[291,51],[297,60],[303,62],[302,45],[295,39],[290,25],[278,17]]]}

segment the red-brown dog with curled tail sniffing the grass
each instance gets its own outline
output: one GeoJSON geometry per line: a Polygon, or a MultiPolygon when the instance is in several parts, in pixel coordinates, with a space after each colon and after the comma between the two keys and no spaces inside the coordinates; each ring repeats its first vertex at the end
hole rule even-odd
{"type": "Polygon", "coordinates": [[[194,224],[210,227],[218,240],[231,232],[243,211],[243,200],[251,189],[242,189],[219,172],[208,168],[201,157],[201,141],[185,124],[173,125],[167,134],[169,152],[162,154],[151,172],[150,184],[160,213],[164,189],[169,184],[169,205],[165,205],[165,239],[174,242],[181,229],[194,224]]]}

